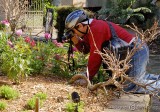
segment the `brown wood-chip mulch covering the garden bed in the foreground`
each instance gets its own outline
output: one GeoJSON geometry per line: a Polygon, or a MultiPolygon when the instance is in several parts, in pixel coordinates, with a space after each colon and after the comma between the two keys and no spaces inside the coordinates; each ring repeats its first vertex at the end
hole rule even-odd
{"type": "Polygon", "coordinates": [[[6,76],[0,76],[0,86],[10,85],[20,92],[19,98],[14,100],[0,98],[7,103],[7,109],[2,112],[24,112],[27,101],[38,92],[47,94],[47,100],[40,108],[40,112],[66,112],[66,104],[72,102],[69,96],[74,91],[79,93],[80,100],[85,104],[84,112],[102,112],[107,107],[110,99],[102,91],[96,94],[97,92],[90,92],[86,87],[69,85],[67,82],[68,79],[55,76],[34,76],[15,85],[6,76]]]}

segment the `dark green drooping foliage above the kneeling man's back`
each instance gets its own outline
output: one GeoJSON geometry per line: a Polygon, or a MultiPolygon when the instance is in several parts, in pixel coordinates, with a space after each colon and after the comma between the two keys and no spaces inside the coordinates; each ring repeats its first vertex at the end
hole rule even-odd
{"type": "Polygon", "coordinates": [[[157,10],[154,5],[147,1],[142,4],[137,0],[114,0],[110,2],[110,6],[98,11],[98,15],[105,15],[109,21],[117,24],[131,25],[134,23],[136,26],[146,30],[150,28],[155,19],[155,11],[157,10]]]}

